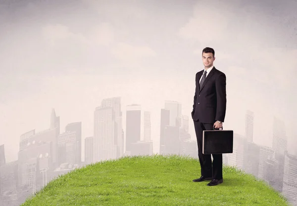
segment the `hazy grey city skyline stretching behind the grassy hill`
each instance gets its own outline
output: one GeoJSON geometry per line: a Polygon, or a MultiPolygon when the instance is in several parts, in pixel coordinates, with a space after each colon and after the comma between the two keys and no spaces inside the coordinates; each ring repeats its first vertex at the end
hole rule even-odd
{"type": "MultiPolygon", "coordinates": [[[[134,144],[133,149],[130,148],[130,151],[125,151],[118,155],[115,151],[117,148],[123,146],[123,141],[117,141],[117,143],[112,142],[112,144],[110,144],[110,140],[113,141],[114,137],[116,137],[116,132],[113,134],[112,132],[110,133],[110,131],[122,129],[117,126],[111,128],[115,125],[112,122],[114,120],[117,120],[117,124],[120,124],[117,118],[120,117],[121,119],[122,116],[119,109],[121,104],[120,99],[120,97],[103,99],[101,106],[96,108],[94,117],[97,123],[95,123],[95,125],[99,127],[94,130],[94,134],[99,133],[101,135],[98,139],[101,143],[99,146],[96,144],[88,146],[90,151],[85,152],[93,156],[94,160],[91,162],[88,161],[88,163],[84,162],[82,165],[108,159],[116,159],[130,155],[130,153],[131,155],[132,153],[133,155],[138,155],[138,153],[152,155],[149,152],[151,146],[148,146],[149,144],[139,141],[138,139],[140,138],[139,130],[141,125],[137,122],[141,121],[141,106],[137,104],[127,105],[126,111],[127,113],[133,112],[127,117],[127,120],[129,119],[129,121],[132,121],[131,123],[136,126],[136,130],[134,130],[136,133],[130,130],[130,132],[128,132],[130,134],[126,134],[134,139],[129,140],[130,143],[134,144]],[[116,111],[118,112],[118,116],[115,115],[116,111]],[[102,127],[102,125],[104,126],[102,127]],[[111,146],[107,153],[104,149],[100,149],[106,148],[106,146],[108,148],[111,146]],[[112,149],[113,147],[115,148],[114,150],[112,149]],[[94,152],[97,149],[101,151],[99,156],[94,152]],[[146,152],[144,152],[144,150],[146,150],[146,152]]],[[[187,135],[189,134],[188,118],[182,115],[181,106],[182,105],[177,101],[166,100],[165,109],[161,109],[161,118],[163,115],[166,121],[160,124],[161,128],[164,127],[165,131],[165,140],[164,142],[160,142],[160,146],[162,145],[160,154],[186,154],[197,158],[197,142],[191,141],[190,135],[187,135]],[[163,113],[163,111],[165,111],[165,113],[163,113]],[[175,121],[173,121],[174,119],[175,121]]],[[[297,156],[290,153],[288,154],[287,152],[287,136],[283,121],[276,117],[273,119],[272,147],[255,145],[250,138],[250,136],[253,135],[252,130],[254,126],[254,120],[250,119],[252,115],[252,111],[246,111],[246,134],[243,136],[234,133],[233,153],[224,154],[223,161],[227,165],[234,165],[239,169],[248,170],[249,173],[256,177],[264,179],[275,190],[284,192],[283,194],[289,198],[289,201],[294,203],[297,200],[297,187],[290,183],[295,180],[297,175],[297,156]],[[289,163],[289,161],[291,162],[289,163]]],[[[30,195],[30,192],[33,194],[41,187],[44,187],[45,184],[56,175],[63,174],[81,166],[81,161],[77,159],[77,157],[80,156],[78,153],[81,153],[81,144],[79,141],[73,142],[73,140],[77,140],[77,137],[81,137],[81,122],[67,124],[65,127],[66,132],[61,132],[60,127],[60,116],[57,116],[55,110],[52,109],[49,129],[38,133],[35,133],[35,130],[30,130],[21,135],[17,161],[10,163],[5,162],[5,155],[1,155],[0,188],[2,190],[1,197],[4,198],[2,201],[6,201],[6,199],[8,200],[10,197],[12,198],[10,201],[20,204],[30,195]],[[78,147],[73,144],[75,142],[78,147]],[[62,145],[63,143],[65,143],[65,145],[62,145]],[[54,145],[57,145],[58,148],[54,147],[54,145]],[[67,168],[67,165],[72,166],[67,168]],[[37,172],[37,169],[41,171],[42,176],[37,172]],[[11,178],[11,172],[18,174],[17,179],[11,178]],[[17,182],[19,183],[16,184],[17,182]],[[28,188],[29,190],[26,192],[22,190],[24,187],[29,187],[30,189],[28,188]],[[16,190],[19,191],[19,195],[13,195],[13,191],[15,192],[16,190]]],[[[120,136],[122,135],[123,133],[120,136]]],[[[86,137],[85,141],[90,144],[91,139],[93,139],[93,137],[86,137]]],[[[116,140],[116,138],[114,140],[116,140]]],[[[4,145],[0,145],[0,152],[3,153],[3,151],[4,145]]],[[[14,177],[16,176],[14,175],[14,177]]]]}

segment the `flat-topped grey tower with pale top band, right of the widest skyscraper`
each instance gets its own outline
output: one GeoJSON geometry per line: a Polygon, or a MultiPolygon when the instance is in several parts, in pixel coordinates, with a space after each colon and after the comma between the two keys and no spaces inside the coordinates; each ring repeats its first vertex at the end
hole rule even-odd
{"type": "Polygon", "coordinates": [[[141,105],[127,105],[126,110],[126,151],[131,152],[132,143],[140,141],[141,105]]]}

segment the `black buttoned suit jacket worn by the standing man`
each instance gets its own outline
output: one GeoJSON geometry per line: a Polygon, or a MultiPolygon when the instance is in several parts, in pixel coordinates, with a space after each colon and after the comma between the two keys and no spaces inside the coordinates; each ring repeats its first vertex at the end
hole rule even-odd
{"type": "Polygon", "coordinates": [[[212,68],[201,88],[199,80],[204,70],[196,74],[196,88],[192,118],[201,123],[224,122],[226,114],[226,75],[212,68]]]}

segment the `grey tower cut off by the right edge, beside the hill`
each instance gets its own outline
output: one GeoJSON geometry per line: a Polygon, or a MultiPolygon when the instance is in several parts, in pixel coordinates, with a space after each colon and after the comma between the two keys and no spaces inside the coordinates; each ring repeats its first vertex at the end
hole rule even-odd
{"type": "Polygon", "coordinates": [[[285,152],[283,194],[291,203],[297,201],[297,157],[285,152]]]}

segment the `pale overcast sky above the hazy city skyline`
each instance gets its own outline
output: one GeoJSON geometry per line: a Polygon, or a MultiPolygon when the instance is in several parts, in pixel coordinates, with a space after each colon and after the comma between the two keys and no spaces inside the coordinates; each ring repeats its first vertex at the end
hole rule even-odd
{"type": "MultiPolygon", "coordinates": [[[[206,46],[215,49],[214,65],[227,75],[224,129],[244,135],[249,109],[254,142],[271,146],[276,116],[285,122],[295,154],[296,8],[294,0],[0,3],[0,145],[6,161],[17,159],[22,133],[49,128],[51,108],[61,132],[81,121],[83,140],[93,136],[95,108],[115,96],[122,97],[124,112],[133,103],[151,112],[158,152],[160,109],[165,100],[179,101],[190,117],[206,46]]],[[[124,131],[125,118],[123,113],[124,131]]],[[[190,133],[195,139],[191,119],[190,133]]]]}

